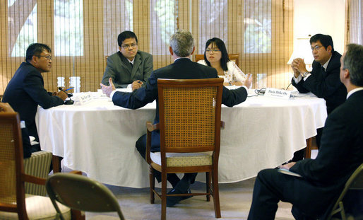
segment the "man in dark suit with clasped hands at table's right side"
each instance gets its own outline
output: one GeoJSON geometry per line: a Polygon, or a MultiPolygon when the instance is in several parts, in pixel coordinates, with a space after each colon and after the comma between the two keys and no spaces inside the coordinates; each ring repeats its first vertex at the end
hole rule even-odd
{"type": "MultiPolygon", "coordinates": [[[[339,80],[341,54],[334,50],[333,40],[330,35],[316,34],[310,38],[311,51],[314,56],[312,71],[307,71],[304,59],[296,58],[291,67],[294,71],[292,86],[299,93],[313,93],[319,98],[326,100],[328,115],[345,102],[347,89],[339,80]]],[[[319,148],[321,133],[318,129],[316,144],[319,148]]],[[[304,155],[304,149],[295,152],[292,161],[299,161],[304,155]]]]}

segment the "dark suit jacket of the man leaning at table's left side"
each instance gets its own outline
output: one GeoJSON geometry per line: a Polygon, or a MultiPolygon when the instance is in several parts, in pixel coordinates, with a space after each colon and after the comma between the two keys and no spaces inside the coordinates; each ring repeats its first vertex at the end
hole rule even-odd
{"type": "Polygon", "coordinates": [[[35,125],[37,106],[47,109],[64,104],[61,98],[52,96],[45,90],[42,74],[28,62],[20,64],[6,86],[2,101],[9,103],[13,110],[19,113],[20,120],[25,121],[28,134],[37,141],[39,141],[35,125]]]}

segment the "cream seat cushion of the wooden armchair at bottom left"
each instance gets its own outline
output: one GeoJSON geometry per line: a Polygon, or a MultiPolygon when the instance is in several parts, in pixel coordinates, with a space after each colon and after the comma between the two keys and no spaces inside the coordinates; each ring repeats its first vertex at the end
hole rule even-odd
{"type": "MultiPolygon", "coordinates": [[[[57,202],[64,219],[71,219],[71,209],[57,202]]],[[[52,201],[49,197],[42,197],[37,195],[25,195],[25,207],[27,210],[28,218],[51,220],[55,219],[56,209],[54,209],[52,201]]],[[[0,212],[0,219],[12,220],[18,219],[18,214],[15,212],[0,212]]]]}

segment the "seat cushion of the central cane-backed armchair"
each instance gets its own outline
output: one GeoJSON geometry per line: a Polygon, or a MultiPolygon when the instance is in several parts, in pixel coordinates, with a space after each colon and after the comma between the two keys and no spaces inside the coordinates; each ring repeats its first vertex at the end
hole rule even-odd
{"type": "MultiPolygon", "coordinates": [[[[212,165],[212,152],[167,153],[167,166],[207,166],[212,165]]],[[[151,160],[161,166],[160,152],[150,153],[151,160]]]]}

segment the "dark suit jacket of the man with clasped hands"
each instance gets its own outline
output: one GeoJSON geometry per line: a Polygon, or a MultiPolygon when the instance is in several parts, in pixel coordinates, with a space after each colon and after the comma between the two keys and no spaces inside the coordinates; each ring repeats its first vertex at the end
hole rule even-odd
{"type": "Polygon", "coordinates": [[[328,114],[331,113],[340,104],[345,102],[347,97],[347,89],[340,82],[340,55],[334,51],[325,73],[321,69],[319,62],[313,62],[313,70],[307,81],[302,79],[299,83],[295,83],[292,79],[292,86],[295,86],[300,93],[314,93],[319,98],[326,100],[326,109],[328,114]]]}

